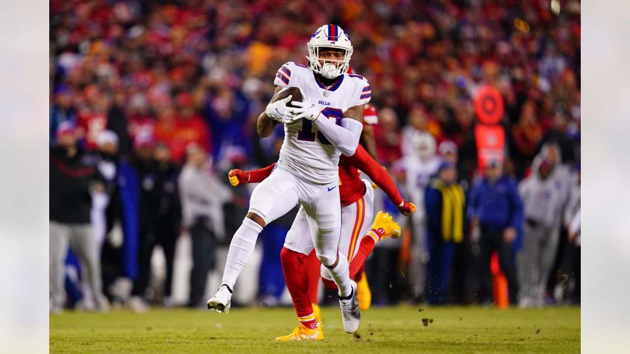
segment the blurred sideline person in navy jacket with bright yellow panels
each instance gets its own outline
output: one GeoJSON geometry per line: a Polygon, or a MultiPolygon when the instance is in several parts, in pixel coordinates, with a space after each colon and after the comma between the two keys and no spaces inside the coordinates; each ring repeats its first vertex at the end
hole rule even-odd
{"type": "Polygon", "coordinates": [[[427,264],[428,304],[446,304],[455,244],[464,239],[465,205],[464,191],[457,183],[455,164],[444,161],[425,192],[430,257],[427,264]]]}

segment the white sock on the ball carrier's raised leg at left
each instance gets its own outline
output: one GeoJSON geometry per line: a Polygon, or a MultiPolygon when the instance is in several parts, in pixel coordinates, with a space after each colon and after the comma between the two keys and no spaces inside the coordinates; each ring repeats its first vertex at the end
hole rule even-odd
{"type": "Polygon", "coordinates": [[[241,270],[243,270],[243,266],[254,251],[256,239],[258,239],[258,234],[261,231],[263,231],[263,228],[254,220],[248,217],[243,219],[243,224],[238,228],[230,243],[221,284],[226,284],[231,289],[234,289],[236,278],[238,278],[241,270]]]}

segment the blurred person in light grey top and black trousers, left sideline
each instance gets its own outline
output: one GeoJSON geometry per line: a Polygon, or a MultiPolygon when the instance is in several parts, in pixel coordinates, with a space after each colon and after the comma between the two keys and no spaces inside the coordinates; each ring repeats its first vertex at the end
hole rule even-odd
{"type": "Polygon", "coordinates": [[[203,295],[208,272],[215,265],[216,239],[224,236],[223,203],[232,197],[231,190],[210,174],[209,168],[203,147],[190,144],[178,181],[183,223],[193,244],[188,307],[205,305],[203,295]]]}

